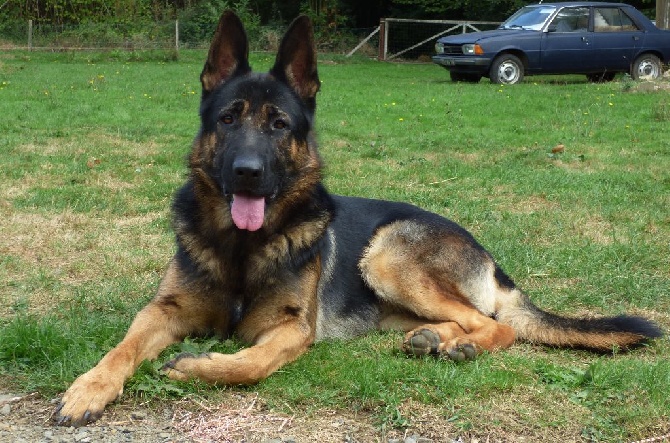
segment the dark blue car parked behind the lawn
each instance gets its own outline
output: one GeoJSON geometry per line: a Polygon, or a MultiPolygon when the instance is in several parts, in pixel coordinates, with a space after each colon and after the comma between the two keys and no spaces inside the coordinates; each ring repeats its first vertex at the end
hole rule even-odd
{"type": "Polygon", "coordinates": [[[453,81],[487,76],[514,84],[535,74],[610,81],[618,72],[655,79],[670,61],[670,31],[623,3],[542,3],[519,9],[498,29],[442,37],[435,51],[433,61],[453,81]]]}

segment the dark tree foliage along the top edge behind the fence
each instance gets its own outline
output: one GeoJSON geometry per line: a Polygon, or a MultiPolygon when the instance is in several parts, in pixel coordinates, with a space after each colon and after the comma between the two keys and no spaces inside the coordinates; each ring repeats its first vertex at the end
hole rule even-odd
{"type": "MultiPolygon", "coordinates": [[[[651,12],[656,0],[629,0],[651,12]]],[[[34,20],[48,24],[160,21],[195,17],[206,26],[209,15],[232,7],[253,24],[285,25],[300,12],[320,24],[369,27],[382,17],[417,19],[503,20],[527,0],[0,0],[0,20],[34,20]]],[[[652,13],[653,15],[653,13],[652,13]]]]}

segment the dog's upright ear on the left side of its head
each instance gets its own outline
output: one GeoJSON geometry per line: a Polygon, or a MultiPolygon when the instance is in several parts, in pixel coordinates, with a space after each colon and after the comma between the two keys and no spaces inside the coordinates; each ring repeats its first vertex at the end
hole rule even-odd
{"type": "Polygon", "coordinates": [[[219,19],[200,74],[203,96],[230,77],[249,71],[249,42],[244,25],[233,11],[225,11],[219,19]]]}

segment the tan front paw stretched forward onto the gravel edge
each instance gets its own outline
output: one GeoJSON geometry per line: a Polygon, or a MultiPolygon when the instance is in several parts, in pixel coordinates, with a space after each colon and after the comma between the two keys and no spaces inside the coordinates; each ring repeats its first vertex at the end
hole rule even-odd
{"type": "Polygon", "coordinates": [[[123,392],[123,383],[114,383],[94,370],[80,376],[63,394],[58,407],[51,415],[58,426],[86,426],[98,420],[105,406],[123,392]]]}

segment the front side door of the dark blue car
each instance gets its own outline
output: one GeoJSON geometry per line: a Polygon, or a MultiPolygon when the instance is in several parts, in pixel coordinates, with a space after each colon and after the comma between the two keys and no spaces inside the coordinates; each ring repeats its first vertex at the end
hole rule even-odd
{"type": "Polygon", "coordinates": [[[595,69],[589,26],[588,7],[558,11],[542,36],[539,72],[563,74],[595,69]]]}

